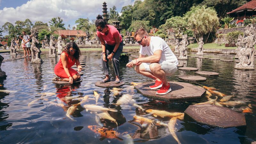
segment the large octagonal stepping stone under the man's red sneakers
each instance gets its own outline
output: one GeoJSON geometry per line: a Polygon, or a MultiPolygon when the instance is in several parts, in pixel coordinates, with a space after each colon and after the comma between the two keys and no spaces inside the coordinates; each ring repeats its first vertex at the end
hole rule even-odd
{"type": "Polygon", "coordinates": [[[193,84],[182,83],[182,82],[169,82],[172,91],[165,95],[157,95],[156,90],[151,90],[150,85],[154,85],[155,82],[145,82],[134,86],[134,88],[141,93],[143,96],[164,101],[186,101],[191,99],[201,98],[206,90],[199,88],[193,84]]]}

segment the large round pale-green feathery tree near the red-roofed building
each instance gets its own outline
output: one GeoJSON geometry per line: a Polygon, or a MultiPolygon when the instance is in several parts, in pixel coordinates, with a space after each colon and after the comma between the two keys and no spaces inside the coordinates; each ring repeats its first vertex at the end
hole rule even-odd
{"type": "Polygon", "coordinates": [[[208,42],[209,36],[216,32],[219,26],[219,18],[214,8],[206,8],[206,6],[197,6],[191,8],[192,12],[188,12],[188,26],[194,31],[196,41],[202,36],[205,42],[208,42]]]}

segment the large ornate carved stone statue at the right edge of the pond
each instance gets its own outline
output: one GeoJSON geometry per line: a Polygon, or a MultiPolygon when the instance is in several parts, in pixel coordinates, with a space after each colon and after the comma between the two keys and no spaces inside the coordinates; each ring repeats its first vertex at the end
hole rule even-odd
{"type": "Polygon", "coordinates": [[[252,25],[251,28],[247,25],[245,27],[244,36],[238,37],[238,42],[236,44],[238,46],[237,57],[239,63],[236,64],[236,69],[254,70],[254,45],[256,44],[255,31],[256,29],[253,28],[252,25]]]}

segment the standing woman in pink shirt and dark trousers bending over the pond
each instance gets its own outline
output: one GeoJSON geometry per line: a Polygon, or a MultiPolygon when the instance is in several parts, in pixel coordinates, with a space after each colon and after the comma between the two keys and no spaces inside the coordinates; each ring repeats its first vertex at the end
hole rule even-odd
{"type": "Polygon", "coordinates": [[[97,36],[101,42],[102,66],[104,74],[106,75],[106,78],[100,81],[100,83],[110,82],[108,60],[113,61],[114,71],[116,74],[115,83],[120,83],[119,57],[123,51],[122,36],[114,26],[107,25],[106,20],[103,19],[101,15],[97,16],[95,25],[97,27],[97,36]]]}

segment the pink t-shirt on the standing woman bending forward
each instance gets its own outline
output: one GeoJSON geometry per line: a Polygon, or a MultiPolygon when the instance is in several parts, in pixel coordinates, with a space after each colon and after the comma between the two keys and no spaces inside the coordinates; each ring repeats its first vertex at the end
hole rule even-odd
{"type": "Polygon", "coordinates": [[[108,29],[109,29],[108,35],[106,36],[105,33],[101,33],[97,31],[97,36],[101,37],[106,42],[106,44],[109,44],[109,45],[115,45],[116,41],[114,37],[119,36],[120,43],[121,43],[122,36],[119,34],[118,30],[114,26],[111,26],[111,25],[106,25],[106,26],[108,26],[108,29]]]}

